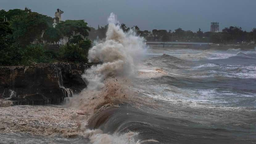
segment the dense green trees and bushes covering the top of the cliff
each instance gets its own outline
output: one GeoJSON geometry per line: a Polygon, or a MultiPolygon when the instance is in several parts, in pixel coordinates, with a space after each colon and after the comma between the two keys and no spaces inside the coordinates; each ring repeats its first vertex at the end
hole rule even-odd
{"type": "Polygon", "coordinates": [[[66,20],[52,27],[53,18],[24,10],[0,10],[0,65],[51,63],[54,61],[87,62],[91,47],[87,23],[84,20],[66,20]],[[8,22],[3,22],[3,21],[8,22]],[[60,50],[59,41],[66,36],[67,45],[60,50]],[[84,37],[84,38],[83,38],[84,37]],[[43,42],[44,41],[44,42],[43,42]]]}

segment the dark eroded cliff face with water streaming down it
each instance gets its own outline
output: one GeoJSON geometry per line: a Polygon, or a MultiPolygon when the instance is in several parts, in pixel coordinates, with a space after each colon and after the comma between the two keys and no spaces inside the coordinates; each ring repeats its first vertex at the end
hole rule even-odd
{"type": "Polygon", "coordinates": [[[89,64],[34,64],[0,67],[0,99],[18,105],[60,104],[81,92],[89,64]]]}

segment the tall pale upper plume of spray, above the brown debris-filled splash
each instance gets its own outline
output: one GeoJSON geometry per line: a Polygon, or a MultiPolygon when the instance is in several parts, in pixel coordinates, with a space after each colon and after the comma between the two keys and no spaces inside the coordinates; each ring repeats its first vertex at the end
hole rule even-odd
{"type": "Polygon", "coordinates": [[[83,75],[89,82],[88,88],[102,86],[102,81],[109,76],[131,76],[136,71],[136,63],[144,54],[145,41],[131,30],[124,33],[116,19],[110,14],[106,40],[97,43],[89,50],[88,59],[91,62],[102,62],[83,75]]]}

